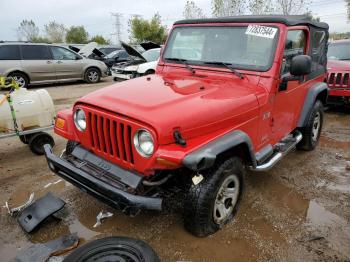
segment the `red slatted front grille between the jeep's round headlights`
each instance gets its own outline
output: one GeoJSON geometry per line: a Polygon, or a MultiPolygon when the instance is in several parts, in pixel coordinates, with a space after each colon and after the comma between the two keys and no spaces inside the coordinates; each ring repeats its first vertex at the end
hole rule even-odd
{"type": "Polygon", "coordinates": [[[100,155],[108,155],[116,162],[132,166],[133,127],[120,118],[112,118],[103,113],[88,112],[87,124],[92,149],[100,155]]]}

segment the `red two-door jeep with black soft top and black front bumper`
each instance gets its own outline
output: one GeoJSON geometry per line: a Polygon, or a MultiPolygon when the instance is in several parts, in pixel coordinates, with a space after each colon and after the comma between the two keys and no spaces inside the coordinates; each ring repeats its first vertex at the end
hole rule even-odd
{"type": "Polygon", "coordinates": [[[178,21],[155,75],[58,113],[55,132],[69,142],[60,157],[45,145],[48,165],[127,212],[161,210],[185,192],[186,229],[212,234],[234,217],[247,168],[315,148],[327,39],[327,24],[301,16],[178,21]]]}

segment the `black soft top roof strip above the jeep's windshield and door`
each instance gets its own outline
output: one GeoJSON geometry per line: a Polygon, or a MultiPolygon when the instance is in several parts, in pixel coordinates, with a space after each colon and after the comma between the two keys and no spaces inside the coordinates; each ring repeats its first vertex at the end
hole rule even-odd
{"type": "Polygon", "coordinates": [[[317,22],[306,15],[241,15],[218,18],[186,19],[175,22],[181,24],[204,24],[204,23],[282,23],[287,26],[311,25],[328,30],[327,23],[317,22]]]}

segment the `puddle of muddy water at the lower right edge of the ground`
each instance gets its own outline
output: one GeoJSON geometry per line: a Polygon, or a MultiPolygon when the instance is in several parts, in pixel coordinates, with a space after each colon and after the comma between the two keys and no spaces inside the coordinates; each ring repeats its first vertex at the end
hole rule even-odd
{"type": "Polygon", "coordinates": [[[344,218],[326,210],[316,201],[311,200],[306,216],[307,225],[329,242],[345,256],[350,256],[350,225],[344,218]]]}

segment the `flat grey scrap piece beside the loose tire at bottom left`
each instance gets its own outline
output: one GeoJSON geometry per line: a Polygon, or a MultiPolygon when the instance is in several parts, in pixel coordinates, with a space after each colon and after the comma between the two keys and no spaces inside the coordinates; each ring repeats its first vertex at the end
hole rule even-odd
{"type": "Polygon", "coordinates": [[[13,261],[47,261],[51,256],[60,256],[76,248],[78,244],[79,238],[76,233],[61,236],[46,243],[38,243],[30,246],[28,249],[18,254],[13,261]]]}

